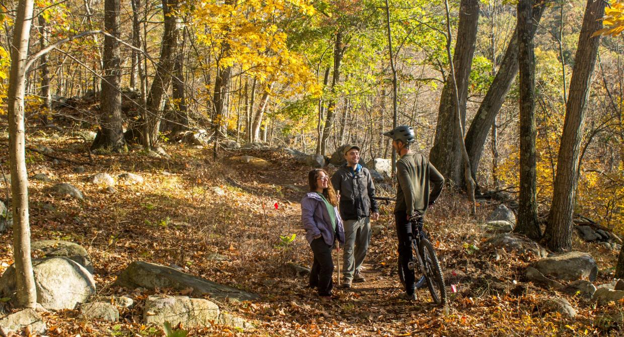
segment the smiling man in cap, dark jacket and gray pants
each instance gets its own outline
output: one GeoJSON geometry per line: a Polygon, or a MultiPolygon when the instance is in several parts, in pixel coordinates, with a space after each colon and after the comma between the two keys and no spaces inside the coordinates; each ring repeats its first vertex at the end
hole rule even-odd
{"type": "Polygon", "coordinates": [[[340,195],[340,217],[344,224],[343,287],[351,288],[351,282],[364,282],[361,266],[371,242],[370,219],[379,218],[373,177],[366,167],[359,164],[359,147],[344,147],[342,165],[331,176],[331,184],[340,195]]]}

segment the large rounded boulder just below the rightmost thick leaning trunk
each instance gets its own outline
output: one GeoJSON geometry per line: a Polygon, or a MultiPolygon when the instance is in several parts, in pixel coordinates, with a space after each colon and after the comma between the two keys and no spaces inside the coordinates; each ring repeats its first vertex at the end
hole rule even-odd
{"type": "Polygon", "coordinates": [[[595,281],[598,266],[592,255],[582,252],[570,252],[549,256],[533,264],[534,268],[546,276],[557,280],[576,281],[580,279],[595,281]]]}

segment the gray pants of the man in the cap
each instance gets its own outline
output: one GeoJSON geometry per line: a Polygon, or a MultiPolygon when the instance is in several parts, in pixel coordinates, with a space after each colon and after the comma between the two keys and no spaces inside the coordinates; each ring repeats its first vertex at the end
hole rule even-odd
{"type": "Polygon", "coordinates": [[[359,220],[344,220],[343,275],[353,280],[353,274],[362,266],[362,262],[371,242],[371,220],[369,217],[359,220]]]}

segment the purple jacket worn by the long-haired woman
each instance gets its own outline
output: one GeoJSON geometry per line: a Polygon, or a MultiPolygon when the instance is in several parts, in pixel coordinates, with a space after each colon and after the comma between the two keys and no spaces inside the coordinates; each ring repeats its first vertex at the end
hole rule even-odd
{"type": "MultiPolygon", "coordinates": [[[[343,220],[340,218],[338,208],[334,207],[336,213],[336,232],[338,232],[338,242],[344,243],[343,220]]],[[[301,222],[306,230],[306,239],[312,243],[314,237],[323,235],[323,240],[329,246],[334,245],[334,229],[331,225],[329,213],[316,192],[308,192],[301,199],[301,222]]]]}

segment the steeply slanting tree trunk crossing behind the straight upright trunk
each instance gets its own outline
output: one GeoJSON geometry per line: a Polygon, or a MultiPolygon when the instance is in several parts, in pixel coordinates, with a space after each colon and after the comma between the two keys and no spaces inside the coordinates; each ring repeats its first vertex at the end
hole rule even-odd
{"type": "MultiPolygon", "coordinates": [[[[544,12],[544,5],[534,7],[533,9],[533,21],[535,24],[531,25],[530,37],[535,36],[535,29],[537,23],[542,18],[544,12]]],[[[514,35],[509,41],[505,56],[499,66],[499,71],[494,77],[494,81],[487,90],[487,94],[481,104],[479,110],[475,115],[472,123],[466,134],[466,150],[468,157],[470,158],[470,168],[472,170],[472,177],[476,178],[477,168],[479,167],[479,161],[483,153],[485,140],[487,134],[494,124],[496,115],[499,113],[500,107],[502,107],[505,97],[514,82],[515,76],[518,73],[518,27],[516,26],[514,35]]]]}

